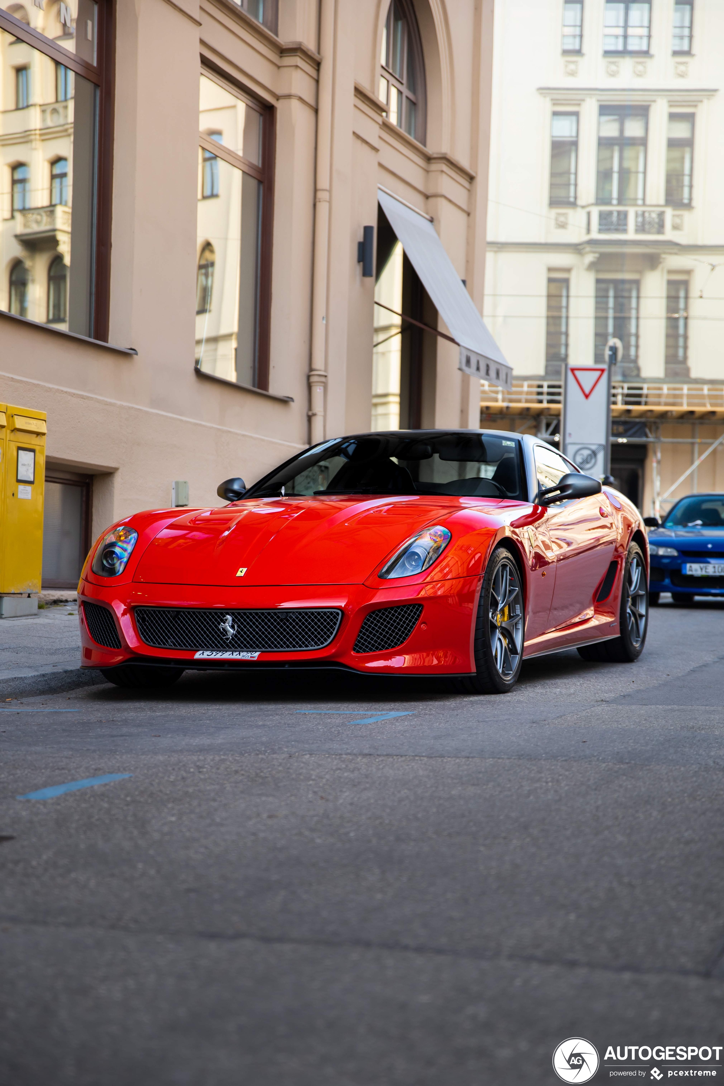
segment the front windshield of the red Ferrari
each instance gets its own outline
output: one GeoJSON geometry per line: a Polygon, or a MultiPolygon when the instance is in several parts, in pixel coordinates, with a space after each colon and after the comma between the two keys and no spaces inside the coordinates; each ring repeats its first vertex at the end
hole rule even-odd
{"type": "Polygon", "coordinates": [[[520,442],[490,433],[365,433],[315,445],[245,497],[448,494],[523,500],[520,442]]]}

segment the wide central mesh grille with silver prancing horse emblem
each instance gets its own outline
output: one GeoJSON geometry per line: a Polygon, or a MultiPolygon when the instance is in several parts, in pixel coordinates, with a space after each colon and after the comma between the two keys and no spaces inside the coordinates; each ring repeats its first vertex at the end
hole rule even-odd
{"type": "Polygon", "coordinates": [[[323,648],[342,620],[336,607],[293,610],[204,610],[200,607],[136,607],[138,633],[153,648],[292,653],[323,648]],[[223,629],[224,628],[224,629],[223,629]]]}

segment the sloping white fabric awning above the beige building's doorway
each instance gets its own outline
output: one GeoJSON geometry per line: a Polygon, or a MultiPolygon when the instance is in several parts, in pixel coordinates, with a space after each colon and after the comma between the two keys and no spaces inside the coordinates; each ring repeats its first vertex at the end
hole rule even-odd
{"type": "Polygon", "coordinates": [[[383,189],[378,189],[378,199],[424,289],[460,346],[458,368],[490,384],[512,388],[512,369],[485,327],[430,219],[383,189]]]}

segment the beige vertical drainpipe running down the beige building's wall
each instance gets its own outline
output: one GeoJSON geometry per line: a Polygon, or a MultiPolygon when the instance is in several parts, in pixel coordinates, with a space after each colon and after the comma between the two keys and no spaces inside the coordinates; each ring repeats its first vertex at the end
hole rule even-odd
{"type": "Polygon", "coordinates": [[[327,389],[327,269],[329,266],[329,189],[332,148],[332,77],[336,0],[319,4],[319,80],[317,84],[317,150],[315,163],[314,257],[312,269],[312,358],[309,442],[325,440],[327,389]]]}

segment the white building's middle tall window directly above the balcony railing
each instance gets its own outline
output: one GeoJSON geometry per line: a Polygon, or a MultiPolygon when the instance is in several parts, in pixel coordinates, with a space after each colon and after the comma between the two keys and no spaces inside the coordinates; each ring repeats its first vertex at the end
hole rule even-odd
{"type": "Polygon", "coordinates": [[[643,204],[647,110],[602,105],[598,116],[598,203],[643,204]]]}

